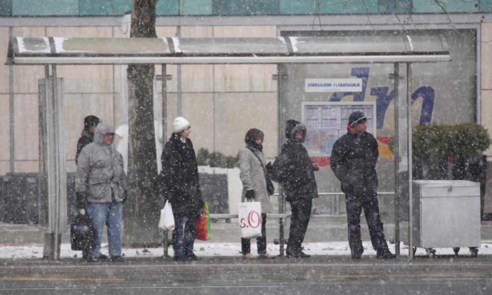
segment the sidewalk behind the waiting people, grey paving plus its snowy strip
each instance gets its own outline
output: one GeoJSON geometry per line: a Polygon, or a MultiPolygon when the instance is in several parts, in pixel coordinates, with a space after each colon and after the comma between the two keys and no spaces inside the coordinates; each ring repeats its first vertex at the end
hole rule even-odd
{"type": "MultiPolygon", "coordinates": [[[[319,256],[350,256],[347,242],[347,224],[345,216],[334,216],[333,218],[314,218],[310,223],[306,234],[304,252],[319,256]]],[[[481,224],[482,245],[479,248],[479,258],[483,255],[492,255],[492,221],[481,224]]],[[[394,225],[385,224],[388,242],[393,241],[394,225]]],[[[400,228],[402,234],[406,235],[407,228],[400,228]]],[[[0,259],[30,259],[42,258],[43,256],[43,234],[45,229],[39,225],[5,224],[0,222],[0,259]]],[[[286,238],[288,236],[288,222],[285,228],[286,238]]],[[[364,256],[375,256],[375,251],[369,241],[369,233],[366,224],[362,224],[362,236],[364,242],[364,256]]],[[[268,252],[278,255],[279,245],[272,243],[278,239],[278,223],[271,220],[267,223],[268,252]]],[[[402,241],[403,237],[400,238],[402,241]]],[[[401,256],[408,256],[408,247],[400,243],[401,256]]],[[[107,243],[103,243],[102,252],[108,254],[107,243]]],[[[124,248],[124,247],[123,247],[124,248]]],[[[394,252],[394,244],[390,245],[394,252]]],[[[436,248],[436,255],[452,256],[453,248],[436,248]]],[[[241,244],[237,222],[212,223],[212,239],[209,241],[196,241],[195,253],[201,257],[241,257],[241,244]]],[[[251,243],[251,252],[256,253],[256,244],[251,243]]],[[[172,247],[168,248],[172,256],[172,247]]],[[[124,248],[125,257],[161,257],[163,248],[124,248]]],[[[416,256],[425,256],[425,249],[418,248],[416,256]]],[[[460,249],[459,255],[470,256],[468,249],[460,249]]],[[[80,258],[81,251],[70,249],[68,232],[62,235],[61,258],[80,258]]]]}

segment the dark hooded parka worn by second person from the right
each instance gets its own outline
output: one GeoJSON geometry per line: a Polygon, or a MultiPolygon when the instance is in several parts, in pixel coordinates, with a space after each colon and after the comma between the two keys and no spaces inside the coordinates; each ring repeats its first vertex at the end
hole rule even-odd
{"type": "Polygon", "coordinates": [[[288,139],[279,155],[280,174],[283,175],[282,187],[286,200],[318,197],[318,186],[314,177],[314,167],[304,145],[288,139]]]}

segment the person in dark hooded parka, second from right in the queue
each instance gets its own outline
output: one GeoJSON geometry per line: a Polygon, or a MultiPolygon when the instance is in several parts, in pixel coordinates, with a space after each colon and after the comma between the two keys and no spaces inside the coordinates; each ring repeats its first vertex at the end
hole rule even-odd
{"type": "Polygon", "coordinates": [[[306,125],[296,120],[286,121],[287,141],[282,146],[279,155],[280,171],[276,172],[282,175],[281,184],[286,195],[285,199],[290,202],[292,210],[289,239],[285,251],[287,257],[292,258],[310,257],[302,251],[301,243],[304,241],[311,217],[313,198],[318,197],[314,171],[319,168],[311,162],[306,147],[304,147],[306,133],[306,125]]]}

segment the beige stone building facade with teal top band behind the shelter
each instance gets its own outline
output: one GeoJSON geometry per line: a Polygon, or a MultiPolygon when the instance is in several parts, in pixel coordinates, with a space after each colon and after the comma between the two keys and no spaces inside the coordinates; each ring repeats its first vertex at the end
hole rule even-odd
{"type": "MultiPolygon", "coordinates": [[[[491,129],[492,1],[476,0],[172,0],[157,2],[158,37],[278,37],[440,35],[452,62],[416,64],[413,68],[414,124],[475,121],[491,129]]],[[[0,1],[0,56],[10,36],[123,37],[128,35],[131,0],[0,1]]],[[[364,44],[361,44],[364,46],[364,44]]],[[[392,95],[393,66],[169,65],[168,121],[178,114],[193,126],[196,149],[235,156],[246,130],[265,131],[265,155],[278,150],[279,95],[297,101],[287,115],[301,119],[302,101],[376,101],[392,95]],[[306,78],[362,78],[363,93],[309,94],[306,78]]],[[[156,74],[160,66],[156,66],[156,74]]],[[[405,73],[402,66],[400,73],[405,73]]],[[[70,172],[86,115],[97,115],[118,127],[125,123],[122,66],[58,66],[64,79],[66,150],[70,172]]],[[[38,79],[43,67],[0,65],[0,175],[36,172],[39,160],[38,79]]],[[[154,118],[161,110],[156,81],[154,118]]],[[[394,133],[393,104],[377,115],[377,134],[394,133]]],[[[168,128],[168,134],[171,129],[168,128]]],[[[486,152],[492,156],[491,150],[486,152]]],[[[391,160],[380,170],[391,174],[391,160]]],[[[328,173],[328,172],[327,172],[328,173]]],[[[390,191],[392,181],[383,182],[390,191]]],[[[326,191],[337,191],[328,186],[326,191]]]]}

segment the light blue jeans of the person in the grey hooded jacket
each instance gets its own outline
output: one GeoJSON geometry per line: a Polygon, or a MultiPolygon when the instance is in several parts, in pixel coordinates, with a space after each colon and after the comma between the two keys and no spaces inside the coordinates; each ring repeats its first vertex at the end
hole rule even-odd
{"type": "Polygon", "coordinates": [[[104,224],[108,227],[108,243],[111,257],[122,255],[122,220],[123,203],[89,203],[87,214],[91,216],[96,228],[96,246],[92,250],[91,257],[99,257],[101,254],[101,240],[104,224]]]}

